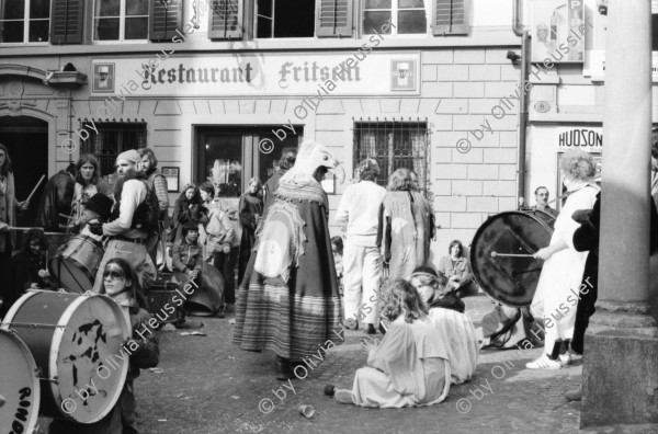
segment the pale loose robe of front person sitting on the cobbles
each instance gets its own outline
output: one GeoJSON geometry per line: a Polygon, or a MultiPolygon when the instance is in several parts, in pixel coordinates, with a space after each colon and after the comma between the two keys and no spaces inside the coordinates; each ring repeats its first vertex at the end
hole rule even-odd
{"type": "Polygon", "coordinates": [[[382,343],[356,370],[352,400],[361,407],[402,408],[441,402],[450,389],[447,343],[428,319],[390,323],[382,343]]]}

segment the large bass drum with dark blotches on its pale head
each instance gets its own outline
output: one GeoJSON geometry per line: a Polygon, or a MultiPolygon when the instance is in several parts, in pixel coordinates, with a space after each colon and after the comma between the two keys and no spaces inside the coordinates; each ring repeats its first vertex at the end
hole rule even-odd
{"type": "Polygon", "coordinates": [[[29,290],[0,328],[13,331],[34,356],[42,414],[93,423],[112,410],[128,370],[123,345],[131,324],[111,298],[29,290]]]}

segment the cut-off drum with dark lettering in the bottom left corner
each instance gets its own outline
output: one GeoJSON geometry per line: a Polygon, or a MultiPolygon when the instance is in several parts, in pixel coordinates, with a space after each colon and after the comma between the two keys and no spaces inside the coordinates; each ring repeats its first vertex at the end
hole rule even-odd
{"type": "Polygon", "coordinates": [[[13,332],[0,330],[0,427],[32,433],[38,416],[38,369],[27,345],[13,332]]]}

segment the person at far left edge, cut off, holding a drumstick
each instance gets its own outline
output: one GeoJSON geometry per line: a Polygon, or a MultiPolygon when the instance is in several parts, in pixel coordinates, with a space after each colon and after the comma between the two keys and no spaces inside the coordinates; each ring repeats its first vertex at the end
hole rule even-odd
{"type": "MultiPolygon", "coordinates": [[[[7,271],[15,240],[10,229],[16,225],[16,213],[27,209],[29,206],[27,201],[16,201],[9,150],[0,144],[0,301],[11,298],[12,292],[11,285],[8,284],[7,271]]],[[[0,306],[0,313],[3,312],[7,310],[0,306]]]]}

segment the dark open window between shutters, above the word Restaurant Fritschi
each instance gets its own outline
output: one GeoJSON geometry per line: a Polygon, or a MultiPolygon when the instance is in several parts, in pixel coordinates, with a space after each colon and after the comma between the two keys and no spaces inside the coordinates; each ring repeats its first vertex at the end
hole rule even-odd
{"type": "Polygon", "coordinates": [[[315,1],[256,0],[256,37],[313,37],[315,1]]]}

